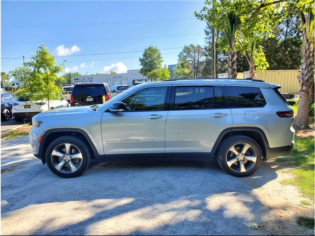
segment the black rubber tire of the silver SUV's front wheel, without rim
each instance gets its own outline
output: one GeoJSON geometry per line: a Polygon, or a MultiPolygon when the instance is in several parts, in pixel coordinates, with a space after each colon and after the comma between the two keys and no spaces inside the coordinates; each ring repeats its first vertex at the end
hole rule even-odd
{"type": "MultiPolygon", "coordinates": [[[[70,153],[69,153],[69,155],[70,155],[70,153]]],[[[84,140],[75,138],[73,136],[63,136],[63,137],[60,137],[60,138],[54,140],[48,146],[48,148],[46,150],[45,158],[46,158],[46,163],[47,163],[48,168],[55,175],[57,175],[59,177],[63,177],[63,178],[72,178],[72,177],[78,177],[78,176],[82,175],[83,172],[85,172],[85,170],[89,167],[89,165],[91,163],[91,159],[92,159],[92,152],[91,152],[90,146],[84,140]],[[75,172],[62,173],[62,172],[58,171],[55,168],[54,164],[52,163],[52,158],[51,158],[52,151],[54,150],[54,148],[56,148],[62,144],[71,144],[71,145],[75,146],[76,148],[78,148],[82,154],[81,166],[75,172]]]]}

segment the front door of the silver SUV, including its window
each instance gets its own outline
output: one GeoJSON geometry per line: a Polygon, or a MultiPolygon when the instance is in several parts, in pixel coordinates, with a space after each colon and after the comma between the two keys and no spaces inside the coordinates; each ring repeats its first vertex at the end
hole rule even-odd
{"type": "Polygon", "coordinates": [[[167,86],[138,90],[122,100],[127,108],[124,112],[103,114],[105,154],[164,154],[167,90],[167,86]]]}

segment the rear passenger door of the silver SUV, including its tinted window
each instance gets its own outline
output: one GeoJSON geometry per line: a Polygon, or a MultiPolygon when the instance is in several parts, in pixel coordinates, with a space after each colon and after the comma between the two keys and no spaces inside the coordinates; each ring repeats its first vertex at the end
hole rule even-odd
{"type": "Polygon", "coordinates": [[[171,99],[165,128],[166,156],[209,156],[221,131],[232,126],[223,87],[173,86],[171,99]]]}

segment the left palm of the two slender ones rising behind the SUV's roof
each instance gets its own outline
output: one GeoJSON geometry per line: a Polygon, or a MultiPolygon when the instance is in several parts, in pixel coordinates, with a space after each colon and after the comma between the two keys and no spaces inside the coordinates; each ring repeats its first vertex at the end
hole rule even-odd
{"type": "Polygon", "coordinates": [[[228,58],[227,58],[227,78],[236,78],[236,54],[235,45],[240,35],[240,28],[242,26],[241,18],[231,10],[226,14],[224,19],[223,33],[225,36],[225,43],[228,46],[228,58]]]}

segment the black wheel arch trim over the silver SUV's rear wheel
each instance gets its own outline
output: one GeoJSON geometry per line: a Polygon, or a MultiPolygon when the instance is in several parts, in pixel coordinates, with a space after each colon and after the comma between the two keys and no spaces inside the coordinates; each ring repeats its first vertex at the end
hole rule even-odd
{"type": "Polygon", "coordinates": [[[269,143],[265,132],[258,127],[250,127],[250,126],[240,126],[240,127],[231,127],[224,129],[217,141],[215,142],[211,154],[213,156],[217,155],[217,151],[221,142],[231,135],[245,135],[249,138],[252,138],[260,147],[262,156],[266,157],[266,149],[269,148],[269,143]]]}

